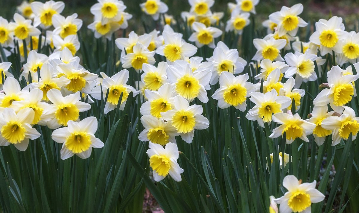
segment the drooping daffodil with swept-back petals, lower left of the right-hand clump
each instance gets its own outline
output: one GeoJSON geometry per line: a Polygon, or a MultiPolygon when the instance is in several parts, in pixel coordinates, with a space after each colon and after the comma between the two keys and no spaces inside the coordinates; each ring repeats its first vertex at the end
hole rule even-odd
{"type": "Polygon", "coordinates": [[[280,126],[275,128],[269,137],[277,138],[285,132],[286,144],[292,144],[292,142],[297,138],[309,142],[307,135],[311,135],[316,127],[315,124],[309,123],[307,120],[304,121],[300,118],[298,113],[295,115],[282,112],[275,113],[272,119],[274,122],[280,124],[280,126]]]}

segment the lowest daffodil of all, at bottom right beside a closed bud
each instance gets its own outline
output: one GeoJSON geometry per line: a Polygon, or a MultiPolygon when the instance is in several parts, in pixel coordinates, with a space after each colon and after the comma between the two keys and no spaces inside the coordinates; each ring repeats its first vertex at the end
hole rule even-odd
{"type": "Polygon", "coordinates": [[[302,183],[294,175],[285,176],[283,186],[288,189],[283,196],[274,201],[279,204],[280,213],[311,212],[312,203],[319,203],[325,196],[315,187],[317,181],[311,183],[302,183]]]}

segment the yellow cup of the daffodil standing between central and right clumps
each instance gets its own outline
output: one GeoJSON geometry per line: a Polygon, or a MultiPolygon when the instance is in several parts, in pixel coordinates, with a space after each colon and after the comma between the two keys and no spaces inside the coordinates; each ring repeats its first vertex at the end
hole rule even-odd
{"type": "Polygon", "coordinates": [[[237,106],[246,101],[247,89],[240,84],[230,85],[223,93],[224,101],[232,106],[237,106]]]}

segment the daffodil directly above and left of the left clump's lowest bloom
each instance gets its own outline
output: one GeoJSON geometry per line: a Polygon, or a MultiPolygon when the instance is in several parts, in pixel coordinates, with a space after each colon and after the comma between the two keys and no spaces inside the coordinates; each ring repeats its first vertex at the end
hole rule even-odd
{"type": "Polygon", "coordinates": [[[51,89],[47,92],[47,98],[52,103],[48,109],[50,111],[48,114],[50,121],[47,122],[50,129],[67,126],[68,121],[77,121],[79,119],[80,112],[91,109],[90,104],[80,101],[80,92],[64,97],[60,90],[51,89]]]}

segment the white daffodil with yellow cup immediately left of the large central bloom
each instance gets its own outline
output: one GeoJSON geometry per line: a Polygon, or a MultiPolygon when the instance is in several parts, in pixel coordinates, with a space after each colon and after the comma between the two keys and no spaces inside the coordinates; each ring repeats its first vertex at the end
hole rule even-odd
{"type": "Polygon", "coordinates": [[[168,82],[167,80],[167,67],[166,62],[158,63],[157,68],[150,64],[143,64],[143,74],[141,81],[145,83],[145,87],[149,90],[158,90],[162,85],[168,82]]]}

